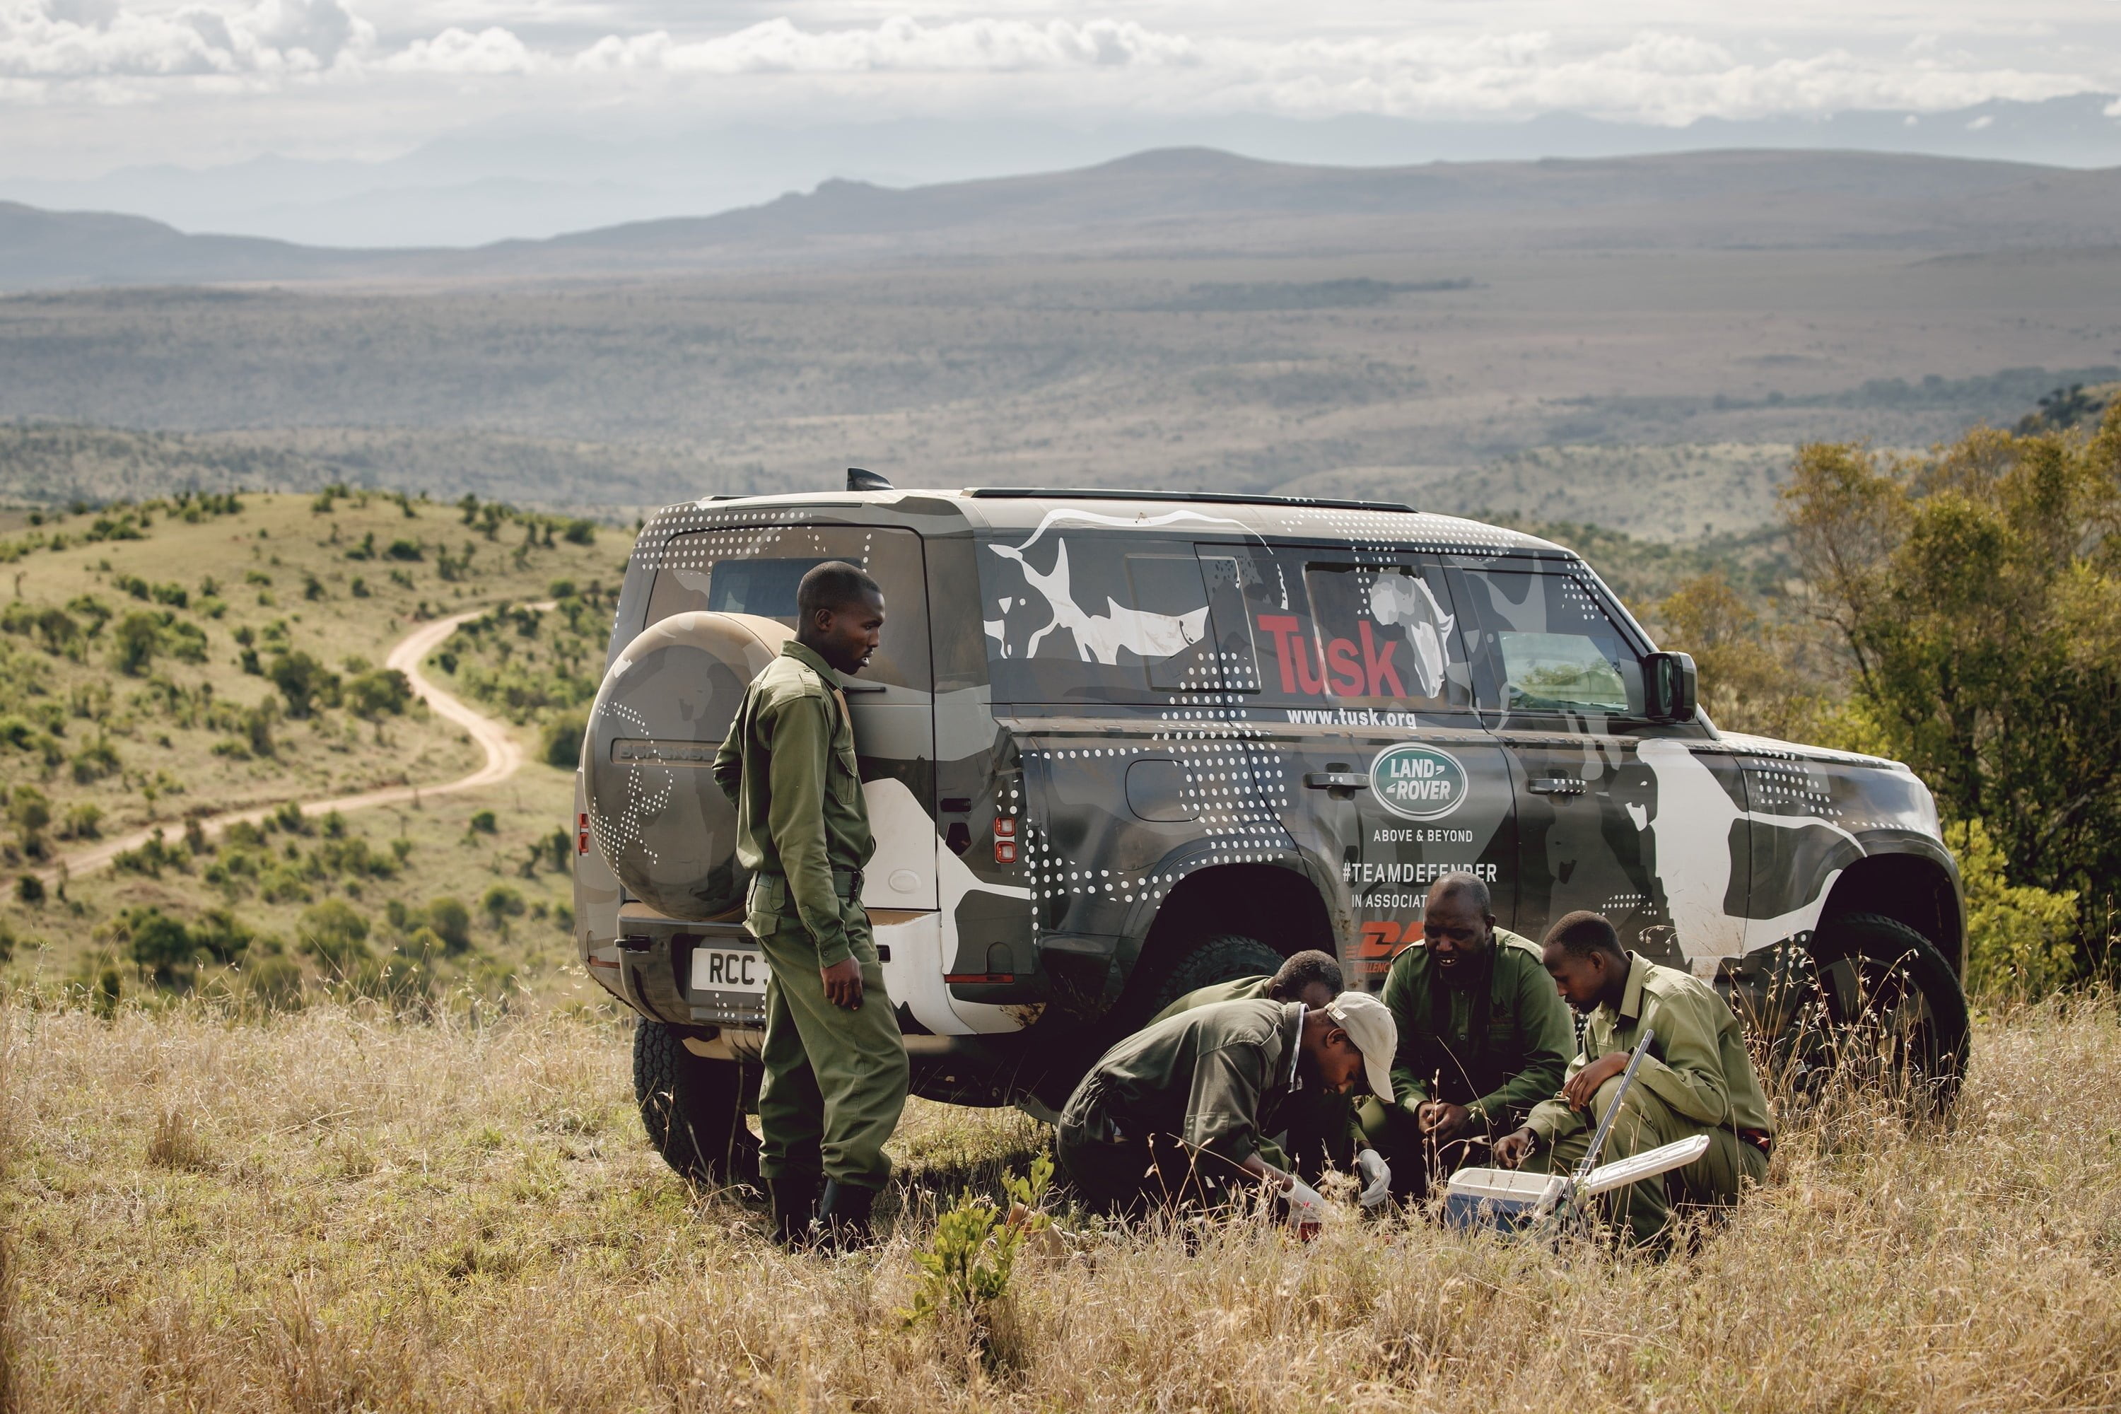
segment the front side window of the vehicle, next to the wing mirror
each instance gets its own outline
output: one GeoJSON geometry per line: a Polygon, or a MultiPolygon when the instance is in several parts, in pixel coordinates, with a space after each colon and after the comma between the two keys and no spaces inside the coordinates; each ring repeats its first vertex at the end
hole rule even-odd
{"type": "Polygon", "coordinates": [[[1480,706],[1591,731],[1642,714],[1642,661],[1589,583],[1565,570],[1466,570],[1480,706]]]}

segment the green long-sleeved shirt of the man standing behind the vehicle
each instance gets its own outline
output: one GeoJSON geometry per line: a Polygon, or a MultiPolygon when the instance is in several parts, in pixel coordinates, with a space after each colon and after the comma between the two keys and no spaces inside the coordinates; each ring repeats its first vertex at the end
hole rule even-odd
{"type": "Polygon", "coordinates": [[[817,941],[819,967],[846,960],[842,892],[831,873],[870,863],[876,835],[840,674],[793,638],[783,644],[744,691],[715,753],[715,780],[736,803],[736,863],[768,884],[785,876],[785,901],[817,941]]]}

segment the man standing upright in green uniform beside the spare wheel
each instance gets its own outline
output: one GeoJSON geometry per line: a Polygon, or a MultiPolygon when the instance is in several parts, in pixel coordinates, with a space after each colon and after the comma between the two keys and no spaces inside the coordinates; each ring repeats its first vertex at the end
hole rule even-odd
{"type": "Polygon", "coordinates": [[[744,926],[766,982],[759,1172],[774,1232],[870,1240],[891,1177],[884,1141],[906,1107],[906,1041],[884,994],[861,867],[876,852],[840,674],[884,628],[876,581],[838,560],[795,589],[795,638],[753,678],[715,780],[736,803],[736,861],[753,871],[744,926]]]}

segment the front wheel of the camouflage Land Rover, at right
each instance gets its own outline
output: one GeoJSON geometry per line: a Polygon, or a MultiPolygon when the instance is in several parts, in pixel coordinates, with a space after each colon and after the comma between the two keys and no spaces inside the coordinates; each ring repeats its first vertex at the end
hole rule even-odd
{"type": "Polygon", "coordinates": [[[1828,1090],[1949,1107],[1966,1073],[1966,994],[1930,939],[1881,914],[1820,926],[1775,977],[1765,1015],[1769,1071],[1794,1096],[1828,1090]]]}

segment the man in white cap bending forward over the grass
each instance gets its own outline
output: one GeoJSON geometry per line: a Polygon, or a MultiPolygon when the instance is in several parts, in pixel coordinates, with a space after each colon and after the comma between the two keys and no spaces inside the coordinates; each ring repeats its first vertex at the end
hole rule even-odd
{"type": "MultiPolygon", "coordinates": [[[[1222,1204],[1247,1183],[1298,1194],[1260,1157],[1290,1096],[1313,1088],[1391,1102],[1398,1028],[1368,992],[1326,1007],[1228,1001],[1126,1037],[1060,1111],[1056,1157],[1077,1196],[1105,1210],[1222,1204]]],[[[1315,1194],[1300,1189],[1315,1200],[1315,1194]]]]}

